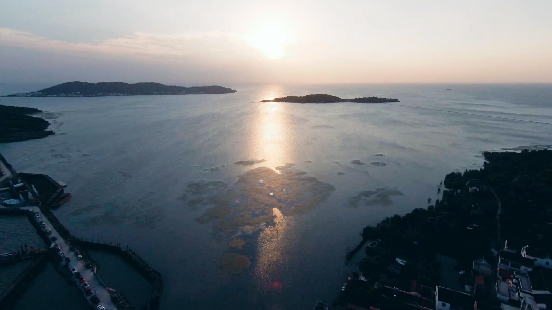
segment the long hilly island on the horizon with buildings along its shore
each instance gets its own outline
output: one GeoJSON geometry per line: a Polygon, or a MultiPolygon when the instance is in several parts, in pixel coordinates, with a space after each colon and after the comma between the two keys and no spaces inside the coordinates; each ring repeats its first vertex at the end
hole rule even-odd
{"type": "Polygon", "coordinates": [[[237,90],[219,85],[183,87],[161,83],[123,82],[67,82],[32,93],[18,93],[6,97],[105,97],[131,95],[199,95],[229,94],[237,90]]]}

